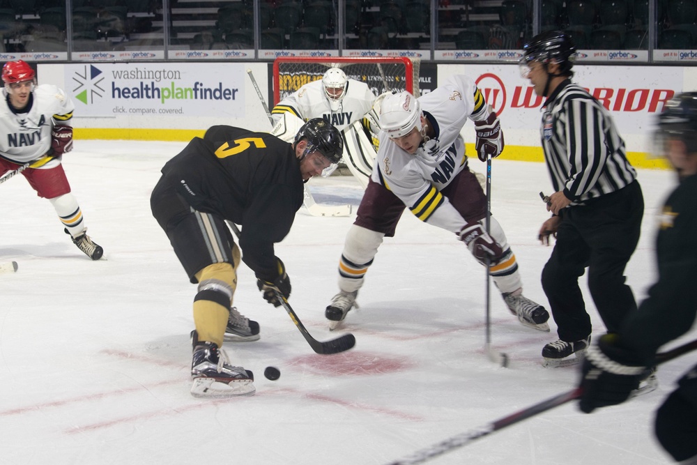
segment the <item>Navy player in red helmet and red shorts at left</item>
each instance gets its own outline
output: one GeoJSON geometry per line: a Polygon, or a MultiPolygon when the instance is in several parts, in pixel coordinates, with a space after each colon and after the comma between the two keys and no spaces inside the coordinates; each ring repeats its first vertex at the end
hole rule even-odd
{"type": "Polygon", "coordinates": [[[82,211],[61,165],[63,153],[72,150],[72,101],[56,86],[37,86],[36,73],[22,60],[5,63],[2,79],[0,174],[31,163],[22,175],[39,197],[49,199],[79,250],[100,259],[102,247],[87,236],[82,211]]]}

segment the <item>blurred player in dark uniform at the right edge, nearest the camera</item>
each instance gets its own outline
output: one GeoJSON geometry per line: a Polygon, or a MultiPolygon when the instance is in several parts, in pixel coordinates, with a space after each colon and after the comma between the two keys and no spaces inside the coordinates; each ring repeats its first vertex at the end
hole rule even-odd
{"type": "MultiPolygon", "coordinates": [[[[588,349],[579,404],[586,413],[625,402],[659,347],[687,333],[697,316],[697,92],[666,104],[657,139],[680,181],[660,217],[658,281],[618,333],[604,335],[588,349]]],[[[697,365],[659,408],[655,434],[676,462],[697,464],[697,365]]]]}

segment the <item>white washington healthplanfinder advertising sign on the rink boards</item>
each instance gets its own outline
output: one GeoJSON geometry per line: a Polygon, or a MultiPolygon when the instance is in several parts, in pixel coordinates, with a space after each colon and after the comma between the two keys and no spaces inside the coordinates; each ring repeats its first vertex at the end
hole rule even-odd
{"type": "Polygon", "coordinates": [[[82,63],[65,73],[80,116],[245,117],[241,64],[82,63]]]}

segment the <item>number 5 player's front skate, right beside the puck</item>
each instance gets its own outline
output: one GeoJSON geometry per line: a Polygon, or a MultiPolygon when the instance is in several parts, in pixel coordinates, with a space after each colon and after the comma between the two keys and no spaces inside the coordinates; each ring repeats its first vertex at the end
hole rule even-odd
{"type": "Polygon", "coordinates": [[[233,367],[227,353],[213,342],[197,340],[192,331],[194,353],[191,362],[191,395],[194,397],[233,397],[254,395],[254,374],[243,367],[233,367]]]}

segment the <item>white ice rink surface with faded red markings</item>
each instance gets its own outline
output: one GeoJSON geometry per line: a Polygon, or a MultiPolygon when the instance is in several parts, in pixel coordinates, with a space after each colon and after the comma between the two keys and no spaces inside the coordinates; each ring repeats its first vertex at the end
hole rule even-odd
{"type": "MultiPolygon", "coordinates": [[[[256,395],[190,395],[190,284],[152,218],[160,167],[185,144],[76,141],[64,166],[107,260],[77,250],[48,201],[22,176],[3,183],[0,262],[0,464],[387,464],[576,387],[577,367],[540,365],[556,340],[524,328],[492,286],[492,342],[510,367],[484,355],[484,270],[453,234],[405,213],[346,319],[354,349],[314,353],[284,310],[268,305],[239,270],[235,305],[261,340],[225,344],[256,374],[256,395]],[[278,367],[268,381],[263,370],[278,367]]],[[[470,166],[484,172],[478,160],[470,166]]],[[[551,192],[544,165],[494,160],[492,211],[519,261],[524,293],[546,305],[539,275],[551,247],[537,241],[551,192]]],[[[638,299],[654,280],[659,206],[668,171],[641,171],[646,211],[627,279],[638,299]]],[[[357,206],[353,178],[309,183],[316,201],[357,206]]],[[[353,218],[301,209],[277,245],[289,299],[314,337],[328,340],[325,306],[353,218]]],[[[594,335],[604,327],[585,286],[594,335]]],[[[695,331],[679,342],[694,338],[695,331]]],[[[671,346],[677,345],[676,343],[671,346]]],[[[668,346],[670,348],[671,346],[668,346]]],[[[666,464],[654,410],[697,354],[659,369],[659,388],[584,415],[568,403],[457,448],[432,464],[666,464]]]]}

